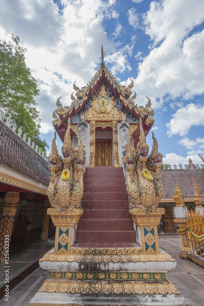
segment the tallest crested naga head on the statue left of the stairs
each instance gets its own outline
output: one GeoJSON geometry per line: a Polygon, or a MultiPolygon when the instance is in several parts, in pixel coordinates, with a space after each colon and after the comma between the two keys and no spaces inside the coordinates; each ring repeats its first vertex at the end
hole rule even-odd
{"type": "Polygon", "coordinates": [[[74,158],[74,148],[72,147],[72,142],[71,142],[71,137],[70,137],[70,125],[71,124],[70,124],[70,118],[69,118],[63,146],[61,148],[62,159],[65,164],[69,164],[70,162],[72,162],[74,158]]]}

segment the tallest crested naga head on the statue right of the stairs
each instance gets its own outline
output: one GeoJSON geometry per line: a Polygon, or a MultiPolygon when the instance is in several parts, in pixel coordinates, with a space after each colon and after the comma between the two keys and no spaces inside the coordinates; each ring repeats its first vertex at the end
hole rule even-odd
{"type": "Polygon", "coordinates": [[[139,135],[139,142],[136,148],[136,155],[139,162],[142,162],[144,165],[147,162],[149,146],[146,144],[146,137],[142,127],[142,119],[139,118],[139,128],[140,128],[140,135],[139,135]]]}

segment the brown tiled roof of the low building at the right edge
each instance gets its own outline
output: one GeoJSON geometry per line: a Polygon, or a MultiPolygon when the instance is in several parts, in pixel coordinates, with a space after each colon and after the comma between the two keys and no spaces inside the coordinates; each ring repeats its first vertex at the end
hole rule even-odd
{"type": "MultiPolygon", "coordinates": [[[[204,170],[203,169],[182,169],[182,170],[161,170],[161,184],[164,188],[162,198],[172,198],[176,195],[176,181],[181,190],[181,195],[187,198],[195,197],[193,179],[195,177],[198,187],[204,192],[204,170]]],[[[201,196],[199,194],[199,196],[201,196]]]]}

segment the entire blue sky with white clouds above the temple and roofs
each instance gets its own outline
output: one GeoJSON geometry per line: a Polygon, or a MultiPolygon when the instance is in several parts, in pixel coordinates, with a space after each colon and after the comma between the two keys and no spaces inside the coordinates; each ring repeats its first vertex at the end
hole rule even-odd
{"type": "MultiPolygon", "coordinates": [[[[1,38],[18,35],[40,89],[41,137],[50,144],[60,96],[85,86],[104,61],[135,102],[154,108],[164,162],[195,164],[204,155],[204,2],[191,0],[2,0],[1,38]]],[[[147,136],[151,146],[151,133],[147,136]]],[[[58,139],[60,148],[61,141],[58,139]]]]}

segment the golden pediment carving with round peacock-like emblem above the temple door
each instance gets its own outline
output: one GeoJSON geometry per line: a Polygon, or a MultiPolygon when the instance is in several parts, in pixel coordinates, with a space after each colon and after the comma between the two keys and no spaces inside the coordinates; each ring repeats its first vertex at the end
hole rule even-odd
{"type": "Polygon", "coordinates": [[[87,121],[100,120],[100,121],[112,121],[121,120],[122,112],[116,107],[116,101],[114,96],[110,97],[110,94],[106,90],[106,85],[102,85],[98,88],[97,97],[92,96],[91,108],[85,111],[87,121]]]}

